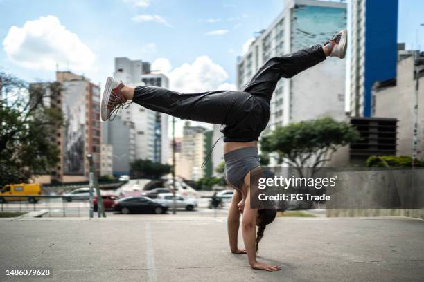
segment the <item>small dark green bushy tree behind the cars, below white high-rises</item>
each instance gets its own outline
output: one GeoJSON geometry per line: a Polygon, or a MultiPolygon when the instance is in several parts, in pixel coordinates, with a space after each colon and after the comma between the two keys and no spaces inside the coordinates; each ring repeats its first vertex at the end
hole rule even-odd
{"type": "Polygon", "coordinates": [[[160,162],[152,162],[151,160],[139,159],[134,160],[130,164],[130,170],[133,178],[160,178],[170,173],[171,166],[160,162]]]}

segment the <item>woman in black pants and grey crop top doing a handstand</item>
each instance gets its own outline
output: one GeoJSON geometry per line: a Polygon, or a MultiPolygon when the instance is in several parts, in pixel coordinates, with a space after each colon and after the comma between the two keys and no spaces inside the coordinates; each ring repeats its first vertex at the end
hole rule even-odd
{"type": "Polygon", "coordinates": [[[259,69],[242,91],[209,91],[184,94],[152,86],[124,86],[112,77],[103,92],[101,115],[108,120],[112,113],[132,100],[153,111],[177,118],[222,124],[224,135],[224,176],[236,189],[227,220],[229,245],[233,253],[247,253],[252,268],[274,271],[280,267],[256,260],[258,243],[265,226],[271,223],[275,209],[254,209],[250,203],[250,172],[260,167],[258,138],[270,119],[270,101],[277,82],[315,66],[327,56],[344,58],[347,32],[338,32],[325,44],[317,44],[281,57],[273,57],[259,69]],[[242,238],[245,250],[238,248],[238,228],[242,212],[242,238]],[[256,236],[256,225],[258,232],[256,236]]]}

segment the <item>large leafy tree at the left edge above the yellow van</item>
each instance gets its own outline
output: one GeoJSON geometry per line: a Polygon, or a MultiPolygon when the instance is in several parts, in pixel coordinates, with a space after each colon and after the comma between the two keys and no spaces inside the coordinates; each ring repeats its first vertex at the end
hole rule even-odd
{"type": "Polygon", "coordinates": [[[63,117],[46,103],[61,91],[58,83],[28,84],[0,72],[0,185],[27,182],[50,173],[59,162],[56,134],[63,117]]]}

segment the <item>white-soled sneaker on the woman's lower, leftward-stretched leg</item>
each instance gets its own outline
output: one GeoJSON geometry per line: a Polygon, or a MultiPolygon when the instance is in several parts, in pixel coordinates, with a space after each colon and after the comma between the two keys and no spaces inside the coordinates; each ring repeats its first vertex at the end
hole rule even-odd
{"type": "Polygon", "coordinates": [[[103,121],[108,120],[112,113],[117,113],[119,108],[127,102],[127,99],[121,93],[123,86],[122,82],[112,77],[107,77],[105,89],[103,90],[102,105],[100,107],[103,121]]]}

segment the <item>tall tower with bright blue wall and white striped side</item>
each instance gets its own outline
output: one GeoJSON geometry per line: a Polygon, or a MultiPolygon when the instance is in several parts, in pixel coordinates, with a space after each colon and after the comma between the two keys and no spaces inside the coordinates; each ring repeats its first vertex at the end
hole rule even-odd
{"type": "Polygon", "coordinates": [[[370,117],[374,82],[396,77],[398,0],[383,2],[351,1],[352,116],[370,117]]]}

